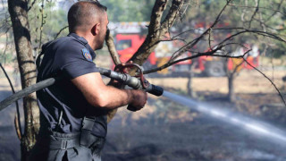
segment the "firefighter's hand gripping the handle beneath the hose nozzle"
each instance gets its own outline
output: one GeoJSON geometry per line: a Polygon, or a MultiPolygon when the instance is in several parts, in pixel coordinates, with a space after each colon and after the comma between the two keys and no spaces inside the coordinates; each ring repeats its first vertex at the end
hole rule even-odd
{"type": "Polygon", "coordinates": [[[147,93],[142,90],[132,90],[133,100],[127,107],[130,111],[139,111],[142,109],[147,102],[147,93]]]}

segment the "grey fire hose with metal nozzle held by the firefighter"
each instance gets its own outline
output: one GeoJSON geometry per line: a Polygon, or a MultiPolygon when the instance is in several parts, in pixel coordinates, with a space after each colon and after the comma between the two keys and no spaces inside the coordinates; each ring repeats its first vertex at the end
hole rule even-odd
{"type": "MultiPolygon", "coordinates": [[[[163,95],[164,89],[162,87],[149,83],[145,79],[143,75],[143,70],[139,67],[138,64],[126,64],[126,65],[119,64],[115,67],[115,71],[117,72],[114,72],[112,70],[108,70],[105,68],[99,68],[99,67],[97,68],[101,75],[104,75],[113,80],[117,80],[120,83],[127,85],[132,89],[142,89],[157,97],[163,95]],[[132,68],[132,67],[138,67],[139,69],[135,76],[130,76],[130,74],[126,72],[128,68],[132,68]]],[[[0,102],[0,111],[2,111],[5,107],[11,105],[13,102],[17,101],[18,99],[21,99],[22,97],[26,97],[29,94],[39,89],[47,88],[55,84],[57,80],[61,80],[61,79],[63,79],[63,77],[55,77],[55,78],[49,78],[46,80],[42,80],[34,85],[29,86],[26,89],[22,89],[21,91],[16,92],[12,96],[7,97],[3,101],[0,102]]]]}

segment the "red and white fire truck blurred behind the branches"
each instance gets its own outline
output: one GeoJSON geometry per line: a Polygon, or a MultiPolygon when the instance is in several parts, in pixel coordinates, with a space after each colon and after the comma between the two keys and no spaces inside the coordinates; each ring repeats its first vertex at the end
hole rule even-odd
{"type": "MultiPolygon", "coordinates": [[[[142,30],[146,29],[147,22],[119,22],[111,23],[109,28],[115,37],[115,46],[120,55],[121,61],[124,63],[139,49],[145,40],[145,35],[141,34],[142,30]]],[[[162,41],[156,47],[155,51],[148,57],[147,62],[143,64],[145,69],[155,68],[167,63],[172,56],[172,53],[180,48],[180,43],[175,41],[162,41]]],[[[232,55],[242,55],[245,50],[238,48],[232,55]]],[[[185,53],[178,59],[191,55],[185,53]]],[[[253,51],[249,53],[248,62],[253,66],[258,66],[258,49],[253,47],[253,51]]],[[[236,64],[240,64],[241,60],[228,59],[227,70],[232,70],[236,64]]],[[[225,59],[213,56],[200,56],[193,60],[187,60],[174,64],[163,71],[157,72],[156,76],[184,76],[189,72],[189,65],[196,62],[196,72],[205,76],[225,76],[225,59]]],[[[251,69],[248,64],[242,64],[240,69],[251,69]]]]}

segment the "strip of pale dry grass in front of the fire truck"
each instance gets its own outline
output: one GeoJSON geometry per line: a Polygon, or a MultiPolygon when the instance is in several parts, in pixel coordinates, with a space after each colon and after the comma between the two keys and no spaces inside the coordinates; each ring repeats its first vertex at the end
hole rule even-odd
{"type": "MultiPolygon", "coordinates": [[[[282,77],[286,75],[286,71],[265,72],[278,89],[282,89],[282,77]]],[[[165,88],[181,89],[186,91],[188,79],[186,78],[162,78],[149,79],[150,82],[164,86],[165,88]]],[[[260,73],[249,70],[241,71],[240,75],[234,80],[236,93],[273,93],[276,92],[273,85],[260,73]]],[[[195,91],[209,91],[227,94],[228,80],[226,77],[209,77],[194,78],[192,88],[195,91]]]]}

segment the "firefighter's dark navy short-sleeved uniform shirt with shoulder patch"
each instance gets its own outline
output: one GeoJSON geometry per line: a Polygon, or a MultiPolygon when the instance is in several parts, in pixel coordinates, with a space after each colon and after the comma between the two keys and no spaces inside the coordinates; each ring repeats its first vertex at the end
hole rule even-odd
{"type": "Polygon", "coordinates": [[[71,83],[71,79],[80,75],[98,72],[96,64],[92,62],[96,54],[88,46],[87,40],[71,33],[46,43],[42,51],[45,55],[38,69],[38,81],[55,76],[63,76],[63,79],[37,92],[40,133],[79,132],[82,118],[92,110],[92,114],[97,116],[92,133],[105,137],[107,111],[89,105],[80,90],[71,83]],[[63,116],[58,123],[61,111],[63,116]]]}

